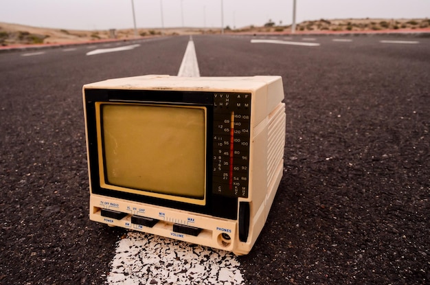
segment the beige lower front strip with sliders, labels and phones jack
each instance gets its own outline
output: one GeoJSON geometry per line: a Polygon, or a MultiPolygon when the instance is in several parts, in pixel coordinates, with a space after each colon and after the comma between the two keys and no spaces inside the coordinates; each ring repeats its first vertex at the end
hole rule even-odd
{"type": "MultiPolygon", "coordinates": [[[[110,226],[186,240],[224,250],[234,249],[238,221],[213,218],[192,212],[123,201],[93,195],[90,197],[91,220],[110,226]]],[[[245,217],[249,220],[249,217],[245,217]]],[[[239,218],[240,220],[240,218],[239,218]]]]}

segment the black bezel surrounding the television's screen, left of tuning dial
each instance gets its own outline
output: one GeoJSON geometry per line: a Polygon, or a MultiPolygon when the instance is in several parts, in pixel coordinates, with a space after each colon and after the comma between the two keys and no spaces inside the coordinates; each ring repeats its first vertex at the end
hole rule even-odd
{"type": "Polygon", "coordinates": [[[209,214],[220,218],[236,220],[238,198],[223,196],[212,191],[212,135],[214,122],[214,93],[205,91],[166,91],[128,89],[85,89],[84,104],[87,117],[87,139],[89,155],[90,189],[92,194],[121,198],[128,201],[148,203],[162,207],[172,207],[190,212],[209,214]],[[178,106],[203,106],[206,108],[206,189],[205,205],[163,199],[145,194],[135,194],[110,190],[100,185],[98,135],[95,115],[96,102],[124,102],[135,104],[165,104],[178,106]]]}

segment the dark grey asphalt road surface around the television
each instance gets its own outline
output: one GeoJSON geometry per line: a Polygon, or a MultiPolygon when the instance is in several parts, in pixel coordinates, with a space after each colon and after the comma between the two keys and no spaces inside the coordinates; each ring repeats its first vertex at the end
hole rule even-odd
{"type": "MultiPolygon", "coordinates": [[[[187,43],[0,54],[1,284],[104,283],[125,231],[87,217],[82,85],[176,75],[187,43]]],[[[284,178],[239,258],[245,282],[429,284],[430,39],[194,36],[194,45],[201,76],[284,81],[284,178]]]]}

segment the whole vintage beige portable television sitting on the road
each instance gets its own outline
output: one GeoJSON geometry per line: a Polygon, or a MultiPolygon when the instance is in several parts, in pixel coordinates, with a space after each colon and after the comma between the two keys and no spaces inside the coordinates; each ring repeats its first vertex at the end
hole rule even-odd
{"type": "Polygon", "coordinates": [[[283,173],[282,78],[83,87],[91,220],[247,254],[283,173]]]}

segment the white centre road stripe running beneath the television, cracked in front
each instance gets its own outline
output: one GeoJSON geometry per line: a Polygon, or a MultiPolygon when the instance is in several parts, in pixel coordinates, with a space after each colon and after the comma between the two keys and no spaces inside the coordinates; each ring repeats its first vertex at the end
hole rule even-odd
{"type": "MultiPolygon", "coordinates": [[[[191,37],[178,76],[200,76],[191,37]]],[[[234,253],[136,231],[117,242],[107,277],[109,285],[239,285],[243,281],[234,253]]]]}

